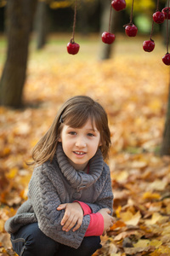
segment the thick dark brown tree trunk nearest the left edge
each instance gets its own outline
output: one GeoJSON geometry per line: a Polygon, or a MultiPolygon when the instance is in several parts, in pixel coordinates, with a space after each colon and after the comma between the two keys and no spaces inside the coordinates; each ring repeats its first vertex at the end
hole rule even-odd
{"type": "Polygon", "coordinates": [[[8,49],[0,81],[0,104],[19,108],[26,80],[29,36],[37,0],[8,0],[6,25],[8,49]]]}

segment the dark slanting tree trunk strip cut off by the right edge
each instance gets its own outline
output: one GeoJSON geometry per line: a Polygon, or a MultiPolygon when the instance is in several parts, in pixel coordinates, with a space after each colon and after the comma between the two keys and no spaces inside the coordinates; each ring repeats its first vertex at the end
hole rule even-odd
{"type": "Polygon", "coordinates": [[[170,84],[167,103],[167,115],[161,143],[161,155],[170,155],[170,84]]]}

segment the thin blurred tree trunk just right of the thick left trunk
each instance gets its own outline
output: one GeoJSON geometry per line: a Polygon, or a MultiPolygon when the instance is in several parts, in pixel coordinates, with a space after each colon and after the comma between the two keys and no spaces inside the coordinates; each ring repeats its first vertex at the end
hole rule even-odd
{"type": "Polygon", "coordinates": [[[38,2],[36,15],[37,49],[42,49],[46,44],[48,34],[48,4],[38,2]]]}

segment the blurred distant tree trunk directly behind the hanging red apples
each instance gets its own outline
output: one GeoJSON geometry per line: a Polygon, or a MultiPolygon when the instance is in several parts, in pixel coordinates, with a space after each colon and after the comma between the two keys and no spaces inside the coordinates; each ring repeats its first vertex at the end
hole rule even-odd
{"type": "MultiPolygon", "coordinates": [[[[103,9],[102,15],[101,15],[100,34],[102,34],[102,32],[109,32],[110,12],[112,14],[111,15],[111,32],[114,33],[114,30],[116,27],[116,20],[118,20],[119,14],[114,9],[111,9],[111,1],[100,0],[100,3],[101,3],[101,7],[103,9]]],[[[100,60],[105,60],[105,59],[111,58],[113,44],[105,44],[105,43],[101,42],[100,49],[99,49],[99,59],[100,60]]]]}

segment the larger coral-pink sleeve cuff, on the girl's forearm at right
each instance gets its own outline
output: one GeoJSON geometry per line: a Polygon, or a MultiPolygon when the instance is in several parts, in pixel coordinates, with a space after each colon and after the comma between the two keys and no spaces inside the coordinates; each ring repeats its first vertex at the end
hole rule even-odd
{"type": "Polygon", "coordinates": [[[90,214],[90,223],[85,236],[101,236],[104,231],[104,218],[101,213],[90,214]]]}

